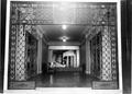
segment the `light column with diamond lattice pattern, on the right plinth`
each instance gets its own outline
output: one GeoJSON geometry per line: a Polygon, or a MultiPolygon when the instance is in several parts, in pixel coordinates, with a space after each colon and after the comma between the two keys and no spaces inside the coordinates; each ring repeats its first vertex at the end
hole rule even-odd
{"type": "Polygon", "coordinates": [[[111,40],[108,26],[105,26],[102,31],[102,68],[101,68],[101,80],[112,80],[111,74],[111,40]]]}

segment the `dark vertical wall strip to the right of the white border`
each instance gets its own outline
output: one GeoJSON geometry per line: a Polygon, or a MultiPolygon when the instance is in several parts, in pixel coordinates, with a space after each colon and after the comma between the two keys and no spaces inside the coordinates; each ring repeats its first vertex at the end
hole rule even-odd
{"type": "Polygon", "coordinates": [[[123,93],[131,91],[131,31],[132,31],[132,1],[121,2],[121,35],[122,35],[122,73],[123,93]]]}

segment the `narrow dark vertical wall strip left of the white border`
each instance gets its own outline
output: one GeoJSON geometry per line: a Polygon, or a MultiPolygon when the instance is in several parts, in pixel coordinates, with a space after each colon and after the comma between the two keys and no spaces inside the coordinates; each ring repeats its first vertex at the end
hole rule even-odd
{"type": "Polygon", "coordinates": [[[1,17],[1,21],[0,21],[0,26],[1,26],[1,30],[0,30],[0,66],[1,66],[1,69],[0,69],[0,93],[2,92],[2,89],[3,89],[3,70],[4,70],[4,42],[6,42],[6,12],[7,12],[7,0],[1,0],[1,4],[0,4],[0,10],[1,10],[1,14],[0,14],[0,17],[1,17]],[[2,23],[1,23],[2,22],[2,23]]]}

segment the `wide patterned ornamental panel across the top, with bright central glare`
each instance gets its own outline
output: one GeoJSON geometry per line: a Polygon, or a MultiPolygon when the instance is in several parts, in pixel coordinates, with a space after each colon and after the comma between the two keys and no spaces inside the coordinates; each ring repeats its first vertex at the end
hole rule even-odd
{"type": "Polygon", "coordinates": [[[116,25],[117,5],[113,3],[52,3],[12,2],[11,23],[116,25]],[[109,20],[108,21],[108,14],[109,20]]]}

